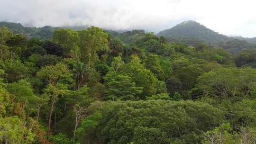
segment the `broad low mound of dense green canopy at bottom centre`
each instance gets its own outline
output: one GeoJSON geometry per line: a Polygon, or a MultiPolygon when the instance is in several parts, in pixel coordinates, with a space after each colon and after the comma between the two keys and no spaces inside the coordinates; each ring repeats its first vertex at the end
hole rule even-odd
{"type": "Polygon", "coordinates": [[[86,118],[82,122],[88,128],[81,131],[80,139],[87,138],[91,143],[99,140],[104,144],[159,144],[159,141],[168,144],[174,139],[184,144],[199,143],[203,132],[218,126],[222,120],[217,108],[192,101],[108,101],[100,112],[100,119],[89,117],[90,120],[86,118]]]}

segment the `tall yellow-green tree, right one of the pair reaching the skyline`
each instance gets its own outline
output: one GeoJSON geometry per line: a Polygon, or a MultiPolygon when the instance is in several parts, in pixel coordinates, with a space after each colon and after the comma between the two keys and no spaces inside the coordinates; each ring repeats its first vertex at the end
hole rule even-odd
{"type": "Polygon", "coordinates": [[[98,59],[97,51],[108,49],[108,34],[99,27],[89,27],[79,31],[80,50],[82,61],[87,63],[88,68],[98,59]]]}

